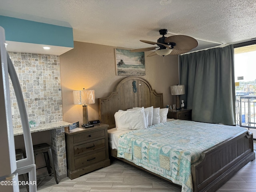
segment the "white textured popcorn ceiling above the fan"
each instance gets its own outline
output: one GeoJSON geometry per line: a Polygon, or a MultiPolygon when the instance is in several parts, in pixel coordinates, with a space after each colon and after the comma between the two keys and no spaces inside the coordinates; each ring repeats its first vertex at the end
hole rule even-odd
{"type": "Polygon", "coordinates": [[[194,50],[256,38],[256,0],[0,0],[0,15],[73,28],[74,40],[129,49],[158,30],[198,40],[194,50]]]}

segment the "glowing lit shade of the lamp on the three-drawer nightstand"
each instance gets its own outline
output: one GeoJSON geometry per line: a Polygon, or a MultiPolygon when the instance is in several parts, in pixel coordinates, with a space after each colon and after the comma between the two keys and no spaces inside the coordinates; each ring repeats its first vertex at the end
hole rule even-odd
{"type": "Polygon", "coordinates": [[[78,90],[73,91],[74,104],[94,104],[95,95],[94,90],[78,90]]]}

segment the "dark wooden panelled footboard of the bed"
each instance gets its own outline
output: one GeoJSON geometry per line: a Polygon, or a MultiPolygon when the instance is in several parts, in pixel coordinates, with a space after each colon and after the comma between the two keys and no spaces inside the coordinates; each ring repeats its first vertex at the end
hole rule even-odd
{"type": "Polygon", "coordinates": [[[254,159],[253,136],[248,131],[202,152],[191,166],[194,192],[216,191],[254,159]]]}

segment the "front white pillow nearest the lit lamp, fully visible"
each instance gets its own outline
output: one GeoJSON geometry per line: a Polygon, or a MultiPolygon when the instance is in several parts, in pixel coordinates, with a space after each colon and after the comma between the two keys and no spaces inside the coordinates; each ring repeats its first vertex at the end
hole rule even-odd
{"type": "Polygon", "coordinates": [[[146,129],[144,108],[138,110],[118,111],[114,115],[117,130],[146,129]]]}

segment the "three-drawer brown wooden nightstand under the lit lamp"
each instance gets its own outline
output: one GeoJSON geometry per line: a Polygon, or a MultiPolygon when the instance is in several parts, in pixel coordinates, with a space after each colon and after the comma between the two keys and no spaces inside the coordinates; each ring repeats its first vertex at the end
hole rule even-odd
{"type": "Polygon", "coordinates": [[[68,177],[72,180],[110,165],[108,125],[65,130],[68,177]]]}

